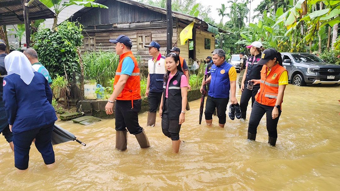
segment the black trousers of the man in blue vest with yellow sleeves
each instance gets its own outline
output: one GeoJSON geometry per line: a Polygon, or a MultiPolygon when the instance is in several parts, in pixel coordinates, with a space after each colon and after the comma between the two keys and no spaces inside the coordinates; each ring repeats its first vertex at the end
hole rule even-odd
{"type": "Polygon", "coordinates": [[[229,98],[212,98],[208,95],[204,111],[205,120],[211,120],[212,114],[214,114],[215,108],[217,108],[218,123],[224,124],[227,117],[225,111],[227,110],[228,102],[229,98]]]}

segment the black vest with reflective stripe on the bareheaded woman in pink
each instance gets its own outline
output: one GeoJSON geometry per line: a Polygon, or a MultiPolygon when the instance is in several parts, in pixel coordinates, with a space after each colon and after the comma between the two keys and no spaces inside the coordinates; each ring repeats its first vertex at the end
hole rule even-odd
{"type": "MultiPolygon", "coordinates": [[[[183,72],[177,71],[177,73],[170,79],[168,89],[168,119],[178,120],[182,111],[182,92],[181,92],[181,77],[184,75],[183,72]]],[[[169,79],[168,79],[169,80],[169,79]]],[[[165,94],[166,86],[168,83],[166,80],[163,83],[163,108],[165,108],[165,94]]]]}

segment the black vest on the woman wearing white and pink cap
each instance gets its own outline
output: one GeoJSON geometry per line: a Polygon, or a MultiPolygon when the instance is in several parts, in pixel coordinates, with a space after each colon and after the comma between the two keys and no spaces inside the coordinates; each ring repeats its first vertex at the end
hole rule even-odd
{"type": "MultiPolygon", "coordinates": [[[[261,59],[261,55],[262,54],[259,53],[258,55],[255,56],[254,63],[253,63],[254,56],[251,56],[248,58],[247,60],[248,70],[247,70],[247,74],[245,76],[245,82],[244,82],[245,87],[248,85],[249,80],[260,80],[261,79],[262,65],[257,64],[258,60],[261,59]]],[[[260,87],[260,84],[256,84],[254,85],[254,87],[260,87]]]]}

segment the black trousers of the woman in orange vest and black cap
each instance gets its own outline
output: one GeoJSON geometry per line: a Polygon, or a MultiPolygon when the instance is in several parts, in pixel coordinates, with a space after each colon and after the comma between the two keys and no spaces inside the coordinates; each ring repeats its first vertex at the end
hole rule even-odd
{"type": "Polygon", "coordinates": [[[260,123],[263,115],[267,115],[267,131],[269,137],[277,138],[277,122],[281,115],[281,110],[278,111],[278,117],[273,119],[272,118],[272,106],[262,105],[255,101],[252,113],[250,114],[249,118],[249,126],[248,126],[248,133],[256,134],[257,126],[260,123]]]}

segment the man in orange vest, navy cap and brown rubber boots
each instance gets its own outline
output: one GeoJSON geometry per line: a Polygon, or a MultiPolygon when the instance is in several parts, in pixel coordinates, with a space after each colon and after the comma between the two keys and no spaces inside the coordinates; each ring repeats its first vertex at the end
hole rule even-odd
{"type": "Polygon", "coordinates": [[[128,133],[136,136],[141,148],[149,147],[149,140],[138,123],[138,112],[141,109],[140,75],[136,58],[131,52],[132,42],[128,36],[120,35],[110,39],[116,45],[116,53],[120,56],[115,75],[114,90],[105,106],[107,115],[113,114],[116,100],[116,148],[124,151],[128,141],[128,133]]]}

